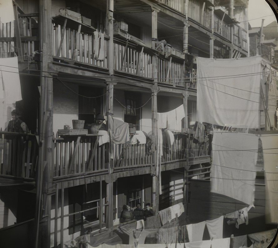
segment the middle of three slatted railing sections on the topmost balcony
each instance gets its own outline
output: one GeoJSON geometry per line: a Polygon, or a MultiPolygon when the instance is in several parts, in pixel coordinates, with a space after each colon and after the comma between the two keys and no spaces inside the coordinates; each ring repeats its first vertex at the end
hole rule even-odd
{"type": "Polygon", "coordinates": [[[212,11],[203,0],[188,0],[188,17],[211,29],[212,11]]]}

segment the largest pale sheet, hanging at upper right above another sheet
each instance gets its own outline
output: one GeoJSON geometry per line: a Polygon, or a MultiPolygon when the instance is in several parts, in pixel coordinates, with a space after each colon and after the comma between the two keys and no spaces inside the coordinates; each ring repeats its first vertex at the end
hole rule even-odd
{"type": "Polygon", "coordinates": [[[265,60],[261,56],[197,57],[197,120],[220,126],[260,128],[262,61],[265,60]]]}

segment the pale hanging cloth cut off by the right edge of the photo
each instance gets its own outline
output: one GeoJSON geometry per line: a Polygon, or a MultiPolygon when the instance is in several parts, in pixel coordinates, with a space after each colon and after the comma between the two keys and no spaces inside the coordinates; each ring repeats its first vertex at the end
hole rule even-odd
{"type": "Polygon", "coordinates": [[[278,135],[261,135],[265,184],[266,184],[266,223],[278,223],[278,135]]]}

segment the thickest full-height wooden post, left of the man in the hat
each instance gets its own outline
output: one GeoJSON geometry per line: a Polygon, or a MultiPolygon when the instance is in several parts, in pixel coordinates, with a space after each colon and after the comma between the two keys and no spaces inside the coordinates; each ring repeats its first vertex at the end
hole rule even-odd
{"type": "MultiPolygon", "coordinates": [[[[45,179],[44,187],[40,187],[39,193],[43,191],[43,199],[46,199],[46,202],[51,201],[51,194],[48,194],[49,189],[53,188],[53,80],[52,73],[48,73],[48,65],[52,63],[52,22],[51,22],[51,0],[40,0],[40,50],[42,52],[42,62],[41,62],[41,74],[40,74],[40,83],[41,83],[41,98],[40,98],[40,154],[41,159],[39,160],[38,178],[42,179],[42,173],[45,171],[47,178],[45,179]],[[43,166],[46,165],[46,166],[43,166]]],[[[38,197],[37,200],[39,200],[38,197]]],[[[39,202],[37,202],[39,206],[39,202]]],[[[39,209],[40,211],[40,209],[39,209]]],[[[45,215],[48,215],[47,229],[50,229],[50,216],[51,208],[47,208],[45,215]]],[[[41,214],[39,214],[41,216],[41,214]]],[[[39,221],[39,220],[38,220],[39,221]]],[[[38,226],[36,234],[36,245],[38,237],[38,226]]],[[[42,236],[42,246],[50,246],[50,232],[42,236]]],[[[37,247],[37,246],[36,246],[37,247]]]]}

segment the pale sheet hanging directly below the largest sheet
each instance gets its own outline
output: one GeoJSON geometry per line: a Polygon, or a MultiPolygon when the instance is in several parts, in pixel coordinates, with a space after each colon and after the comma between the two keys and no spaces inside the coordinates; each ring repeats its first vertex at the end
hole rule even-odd
{"type": "Polygon", "coordinates": [[[211,192],[253,204],[259,137],[213,132],[211,192]]]}

